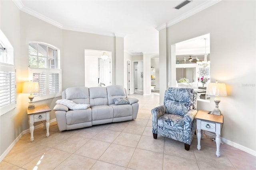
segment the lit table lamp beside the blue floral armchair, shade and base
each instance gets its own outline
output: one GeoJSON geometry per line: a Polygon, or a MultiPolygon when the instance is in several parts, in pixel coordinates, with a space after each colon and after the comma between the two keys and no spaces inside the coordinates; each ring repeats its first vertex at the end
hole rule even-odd
{"type": "Polygon", "coordinates": [[[227,96],[226,84],[225,83],[209,83],[206,88],[206,94],[215,96],[215,109],[212,111],[214,115],[220,115],[221,111],[219,109],[220,98],[219,96],[227,96]]]}

